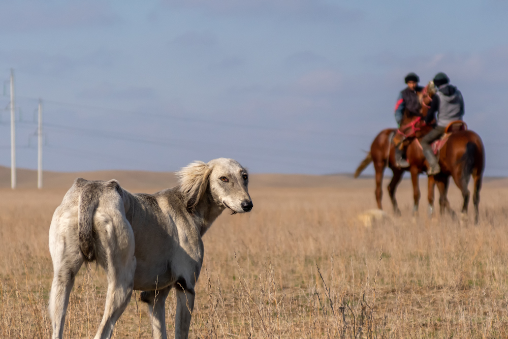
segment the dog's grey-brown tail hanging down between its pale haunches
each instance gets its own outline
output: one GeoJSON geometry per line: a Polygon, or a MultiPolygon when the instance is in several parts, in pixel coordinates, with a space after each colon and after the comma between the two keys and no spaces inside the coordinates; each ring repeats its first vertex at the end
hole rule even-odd
{"type": "Polygon", "coordinates": [[[100,190],[92,182],[83,178],[76,179],[75,184],[82,188],[78,201],[78,235],[79,248],[88,261],[96,257],[93,239],[93,213],[99,205],[100,190]]]}

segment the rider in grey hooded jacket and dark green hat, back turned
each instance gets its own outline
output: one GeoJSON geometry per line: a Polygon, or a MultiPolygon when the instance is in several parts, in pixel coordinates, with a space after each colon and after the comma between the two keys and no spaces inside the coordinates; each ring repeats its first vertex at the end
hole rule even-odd
{"type": "Polygon", "coordinates": [[[420,140],[423,154],[429,162],[427,173],[430,175],[437,174],[441,171],[438,160],[432,151],[432,141],[441,137],[450,122],[462,120],[462,116],[464,115],[464,99],[462,98],[462,94],[457,87],[449,83],[450,79],[448,76],[439,72],[436,74],[433,81],[438,91],[432,98],[432,103],[430,104],[425,120],[427,124],[431,124],[437,112],[437,124],[420,140]]]}

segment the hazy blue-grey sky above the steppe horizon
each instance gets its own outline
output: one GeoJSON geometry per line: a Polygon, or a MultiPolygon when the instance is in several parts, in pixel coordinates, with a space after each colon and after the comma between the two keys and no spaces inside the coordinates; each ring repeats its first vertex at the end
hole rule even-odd
{"type": "MultiPolygon", "coordinates": [[[[226,157],[254,173],[351,173],[396,127],[408,72],[446,72],[508,175],[508,3],[0,0],[0,165],[174,171],[226,157]],[[6,108],[4,110],[4,108],[6,108]]],[[[373,173],[370,166],[367,174],[373,173]]]]}

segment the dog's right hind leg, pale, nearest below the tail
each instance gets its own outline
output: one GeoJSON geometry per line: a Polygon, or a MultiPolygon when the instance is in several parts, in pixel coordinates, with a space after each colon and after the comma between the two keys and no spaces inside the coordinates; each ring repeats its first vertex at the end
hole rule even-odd
{"type": "MultiPolygon", "coordinates": [[[[98,224],[96,218],[96,224],[98,224]]],[[[106,230],[99,237],[104,248],[106,258],[99,258],[108,276],[108,292],[104,316],[95,339],[110,338],[116,321],[120,318],[125,307],[131,300],[134,287],[134,271],[136,258],[134,257],[134,234],[125,219],[121,224],[115,222],[99,225],[98,230],[106,230]]]]}

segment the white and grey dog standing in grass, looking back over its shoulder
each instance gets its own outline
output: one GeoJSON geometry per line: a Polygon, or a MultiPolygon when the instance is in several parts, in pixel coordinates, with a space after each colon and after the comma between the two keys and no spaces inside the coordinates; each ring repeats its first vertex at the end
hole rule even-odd
{"type": "Polygon", "coordinates": [[[49,229],[54,277],[49,298],[53,338],[61,338],[69,294],[83,262],[107,272],[106,307],[96,339],[110,338],[133,289],[143,291],[153,336],[166,338],[165,302],[175,288],[175,338],[186,338],[194,286],[203,263],[202,236],[229,208],[248,212],[247,171],[235,160],[194,162],[178,172],[180,185],[131,194],[116,180],[76,179],[49,229]]]}

